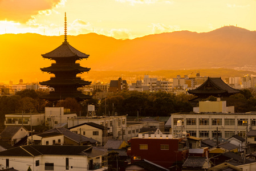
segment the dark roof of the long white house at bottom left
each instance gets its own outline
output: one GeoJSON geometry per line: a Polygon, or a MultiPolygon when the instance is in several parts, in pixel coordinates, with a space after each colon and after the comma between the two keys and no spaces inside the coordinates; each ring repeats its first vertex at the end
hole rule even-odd
{"type": "Polygon", "coordinates": [[[91,145],[25,145],[0,152],[0,156],[83,155],[96,157],[106,154],[91,145]]]}

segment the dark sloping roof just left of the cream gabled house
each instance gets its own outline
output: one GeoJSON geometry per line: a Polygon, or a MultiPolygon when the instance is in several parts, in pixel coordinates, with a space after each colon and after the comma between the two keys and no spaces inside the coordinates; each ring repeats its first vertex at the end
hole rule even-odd
{"type": "Polygon", "coordinates": [[[81,141],[81,143],[85,143],[88,141],[90,141],[91,144],[97,143],[97,141],[94,139],[90,139],[83,135],[78,135],[74,132],[71,132],[70,130],[68,130],[66,128],[54,128],[54,129],[50,129],[44,133],[50,133],[50,132],[62,133],[64,136],[68,137],[69,139],[76,141],[76,143],[80,143],[80,141],[81,141]]]}

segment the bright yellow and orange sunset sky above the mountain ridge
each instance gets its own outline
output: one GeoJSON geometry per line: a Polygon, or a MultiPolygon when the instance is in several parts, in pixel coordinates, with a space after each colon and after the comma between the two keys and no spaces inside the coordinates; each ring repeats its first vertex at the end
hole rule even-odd
{"type": "Polygon", "coordinates": [[[96,32],[116,39],[224,25],[256,30],[255,0],[0,0],[0,34],[96,32]]]}

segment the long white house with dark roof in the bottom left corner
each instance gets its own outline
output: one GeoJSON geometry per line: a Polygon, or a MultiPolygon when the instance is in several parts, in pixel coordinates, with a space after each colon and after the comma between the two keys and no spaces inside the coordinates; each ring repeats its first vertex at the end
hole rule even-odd
{"type": "Polygon", "coordinates": [[[25,145],[0,152],[3,168],[25,171],[105,170],[107,154],[91,145],[25,145]]]}

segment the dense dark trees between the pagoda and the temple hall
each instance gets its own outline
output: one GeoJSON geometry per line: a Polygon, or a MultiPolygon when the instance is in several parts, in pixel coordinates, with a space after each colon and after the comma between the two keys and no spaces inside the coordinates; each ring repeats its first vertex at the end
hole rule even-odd
{"type": "Polygon", "coordinates": [[[128,116],[169,116],[175,112],[193,110],[190,95],[174,95],[166,92],[123,91],[100,101],[98,115],[119,113],[128,116]]]}

